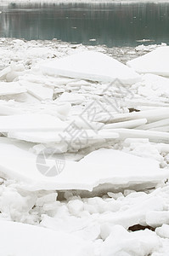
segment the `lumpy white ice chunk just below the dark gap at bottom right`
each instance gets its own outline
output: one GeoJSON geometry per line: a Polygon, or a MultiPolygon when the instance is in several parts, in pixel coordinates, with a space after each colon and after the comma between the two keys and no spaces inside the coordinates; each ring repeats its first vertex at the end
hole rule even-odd
{"type": "Polygon", "coordinates": [[[150,230],[130,234],[120,225],[115,225],[110,236],[104,241],[101,256],[144,256],[158,250],[160,245],[158,236],[150,230]]]}

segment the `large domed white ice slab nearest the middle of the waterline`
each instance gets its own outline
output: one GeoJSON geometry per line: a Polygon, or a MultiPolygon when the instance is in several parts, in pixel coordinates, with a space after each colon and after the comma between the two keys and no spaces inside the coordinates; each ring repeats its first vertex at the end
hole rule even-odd
{"type": "Polygon", "coordinates": [[[59,60],[44,61],[43,73],[93,81],[112,82],[119,79],[124,84],[140,80],[138,73],[119,61],[99,52],[84,51],[59,60]]]}

